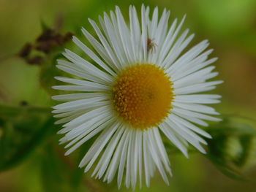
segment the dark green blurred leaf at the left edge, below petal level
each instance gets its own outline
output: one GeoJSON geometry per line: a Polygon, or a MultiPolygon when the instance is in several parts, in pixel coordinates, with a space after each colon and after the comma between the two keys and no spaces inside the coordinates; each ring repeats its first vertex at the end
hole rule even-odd
{"type": "Polygon", "coordinates": [[[20,164],[52,132],[53,118],[37,107],[0,107],[0,171],[20,164]],[[5,111],[3,110],[5,109],[5,111]]]}

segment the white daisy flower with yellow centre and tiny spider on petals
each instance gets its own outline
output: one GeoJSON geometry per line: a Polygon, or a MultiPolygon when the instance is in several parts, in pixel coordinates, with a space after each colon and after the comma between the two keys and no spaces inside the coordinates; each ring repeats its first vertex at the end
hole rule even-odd
{"type": "Polygon", "coordinates": [[[94,166],[92,176],[108,183],[117,175],[119,188],[123,178],[127,188],[138,180],[149,186],[156,170],[168,183],[171,169],[162,137],[186,156],[189,144],[206,153],[202,137],[211,136],[197,125],[219,120],[205,104],[219,103],[220,96],[202,94],[222,82],[207,81],[218,74],[209,66],[217,58],[208,59],[208,41],[183,53],[194,37],[187,37],[188,29],[180,34],[185,17],[169,26],[170,12],[165,9],[160,18],[158,12],[156,7],[149,17],[149,8],[142,6],[139,21],[131,6],[127,24],[116,7],[110,16],[99,16],[100,27],[89,19],[97,37],[82,32],[94,50],[73,37],[87,59],[66,50],[69,61],[58,60],[59,69],[78,78],[56,77],[72,85],[53,88],[83,92],[53,96],[64,101],[53,113],[61,118],[56,123],[64,123],[59,134],[65,134],[60,142],[67,143],[66,155],[96,136],[79,166],[85,172],[94,166]]]}

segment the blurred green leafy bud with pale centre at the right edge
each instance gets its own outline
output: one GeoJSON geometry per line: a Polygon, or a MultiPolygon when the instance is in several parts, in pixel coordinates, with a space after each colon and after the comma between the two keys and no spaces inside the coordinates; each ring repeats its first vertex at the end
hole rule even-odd
{"type": "Polygon", "coordinates": [[[243,176],[241,168],[255,165],[256,128],[253,121],[243,122],[247,118],[227,116],[221,123],[210,126],[208,133],[208,157],[217,168],[228,177],[236,180],[248,180],[243,176]],[[240,169],[240,172],[239,172],[240,169]]]}

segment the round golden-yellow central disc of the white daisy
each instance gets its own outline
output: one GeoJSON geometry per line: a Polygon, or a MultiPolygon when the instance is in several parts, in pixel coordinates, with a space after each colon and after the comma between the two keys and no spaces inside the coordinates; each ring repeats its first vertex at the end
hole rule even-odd
{"type": "Polygon", "coordinates": [[[133,128],[158,126],[172,108],[172,85],[170,77],[155,65],[129,66],[113,86],[115,109],[133,128]]]}

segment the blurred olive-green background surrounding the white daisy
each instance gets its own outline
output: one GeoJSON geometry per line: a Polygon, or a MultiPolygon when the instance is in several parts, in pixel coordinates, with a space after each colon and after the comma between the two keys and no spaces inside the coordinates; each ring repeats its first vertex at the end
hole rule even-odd
{"type": "MultiPolygon", "coordinates": [[[[45,123],[45,116],[41,117],[37,112],[20,115],[20,104],[38,107],[46,113],[53,104],[49,90],[45,87],[50,86],[50,73],[55,73],[48,71],[54,70],[55,57],[43,55],[46,59],[42,64],[27,64],[17,56],[27,42],[33,43],[42,34],[42,23],[49,28],[58,28],[60,34],[72,32],[80,37],[81,26],[91,31],[87,18],[97,20],[98,15],[102,15],[104,11],[109,12],[115,5],[121,7],[128,18],[129,4],[134,4],[139,10],[142,3],[149,5],[151,9],[158,6],[160,11],[165,7],[170,9],[170,21],[174,18],[181,19],[187,14],[183,28],[190,28],[191,33],[196,34],[192,45],[209,39],[210,47],[214,48],[211,56],[219,57],[215,64],[219,72],[218,79],[225,80],[225,83],[214,91],[223,96],[222,103],[215,107],[225,115],[256,118],[255,0],[0,0],[0,103],[1,107],[8,104],[13,107],[10,114],[15,114],[13,117],[15,116],[18,123],[25,117],[26,125],[30,125],[23,130],[21,136],[13,137],[13,130],[10,131],[10,138],[19,141],[13,145],[29,140],[26,133],[37,131],[37,127],[45,123]]],[[[67,42],[64,47],[66,46],[72,48],[72,43],[67,42]]],[[[61,49],[63,47],[59,48],[61,49]]],[[[3,107],[0,111],[7,110],[3,107]]],[[[52,122],[46,121],[46,125],[48,123],[50,125],[52,122]]],[[[1,123],[0,119],[0,139],[8,125],[1,123]]],[[[56,138],[55,135],[57,130],[56,127],[48,130],[47,139],[39,147],[35,147],[33,153],[27,155],[26,161],[21,164],[14,163],[17,166],[0,172],[0,191],[118,191],[116,180],[111,185],[106,185],[90,179],[88,174],[82,177],[83,170],[81,172],[77,169],[78,163],[74,162],[79,161],[79,152],[71,155],[72,161],[64,158],[63,147],[58,147],[59,137],[56,138]],[[70,177],[69,172],[74,177],[70,177]]],[[[35,134],[41,136],[42,133],[37,131],[35,134]]],[[[31,147],[34,142],[26,143],[25,148],[31,147]]],[[[236,145],[232,145],[234,146],[238,150],[236,145]]],[[[83,154],[83,150],[86,149],[82,149],[80,153],[83,154]]],[[[255,151],[256,147],[254,153],[255,151]]],[[[199,153],[191,153],[189,159],[179,153],[172,153],[170,162],[173,177],[170,178],[170,186],[165,185],[156,174],[151,187],[143,187],[141,191],[255,191],[256,155],[254,157],[248,165],[241,168],[241,172],[252,180],[244,182],[225,176],[199,153]]],[[[121,191],[132,190],[123,187],[121,191]]]]}

